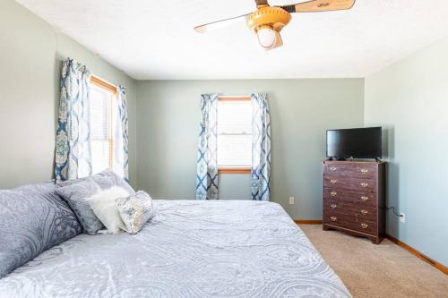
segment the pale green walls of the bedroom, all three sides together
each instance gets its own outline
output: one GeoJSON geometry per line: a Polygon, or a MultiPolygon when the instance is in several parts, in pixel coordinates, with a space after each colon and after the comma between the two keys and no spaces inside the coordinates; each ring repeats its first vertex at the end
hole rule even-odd
{"type": "MultiPolygon", "coordinates": [[[[325,130],[382,125],[388,204],[406,214],[400,224],[389,213],[388,233],[448,265],[448,38],[365,81],[136,82],[13,0],[0,2],[0,37],[0,189],[52,177],[59,72],[69,56],[128,88],[131,183],[157,199],[194,199],[202,93],[269,93],[271,199],[293,218],[322,218],[325,130]]],[[[249,175],[221,176],[221,198],[249,196],[249,175]]]]}

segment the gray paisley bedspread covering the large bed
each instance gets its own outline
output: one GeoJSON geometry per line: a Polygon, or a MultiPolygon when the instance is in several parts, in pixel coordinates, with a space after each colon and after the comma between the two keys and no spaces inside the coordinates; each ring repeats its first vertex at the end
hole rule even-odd
{"type": "Polygon", "coordinates": [[[154,200],[139,234],[81,234],[0,279],[0,297],[350,297],[280,205],[154,200]]]}

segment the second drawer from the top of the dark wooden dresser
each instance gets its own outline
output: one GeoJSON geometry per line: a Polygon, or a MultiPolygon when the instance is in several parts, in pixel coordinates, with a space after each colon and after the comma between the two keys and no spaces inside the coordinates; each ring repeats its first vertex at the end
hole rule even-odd
{"type": "Polygon", "coordinates": [[[352,178],[347,176],[323,175],[323,187],[332,190],[349,190],[355,192],[377,192],[374,179],[352,178]]]}

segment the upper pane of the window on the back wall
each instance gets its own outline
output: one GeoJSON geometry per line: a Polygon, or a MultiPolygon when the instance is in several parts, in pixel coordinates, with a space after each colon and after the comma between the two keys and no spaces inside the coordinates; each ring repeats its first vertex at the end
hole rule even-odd
{"type": "Polygon", "coordinates": [[[218,133],[252,134],[250,100],[218,100],[218,133]]]}

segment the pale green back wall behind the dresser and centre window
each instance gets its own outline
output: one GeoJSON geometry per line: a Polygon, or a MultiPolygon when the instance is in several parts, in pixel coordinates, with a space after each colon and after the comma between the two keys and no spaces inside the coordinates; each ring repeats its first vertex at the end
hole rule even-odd
{"type": "MultiPolygon", "coordinates": [[[[293,218],[322,218],[325,130],[363,126],[362,79],[138,81],[138,187],[194,199],[201,94],[258,91],[271,105],[271,199],[293,218]]],[[[222,199],[250,199],[249,175],[222,175],[220,185],[222,199]]]]}

